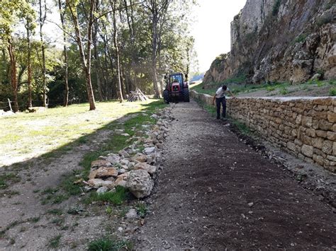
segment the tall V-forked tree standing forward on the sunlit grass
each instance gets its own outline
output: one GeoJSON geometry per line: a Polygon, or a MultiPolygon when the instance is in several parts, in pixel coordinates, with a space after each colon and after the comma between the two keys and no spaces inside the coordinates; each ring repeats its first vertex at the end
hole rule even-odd
{"type": "Polygon", "coordinates": [[[94,11],[95,4],[94,0],[88,0],[89,11],[88,11],[88,24],[87,24],[87,43],[86,43],[86,56],[84,52],[84,45],[82,42],[82,35],[79,28],[78,16],[77,16],[77,5],[76,0],[67,0],[67,5],[69,6],[69,11],[72,16],[72,21],[74,23],[74,31],[76,33],[77,45],[79,47],[79,54],[82,61],[82,68],[86,79],[86,91],[89,99],[90,110],[96,110],[96,103],[94,100],[94,91],[92,89],[91,83],[91,39],[92,39],[92,25],[94,23],[94,11]]]}

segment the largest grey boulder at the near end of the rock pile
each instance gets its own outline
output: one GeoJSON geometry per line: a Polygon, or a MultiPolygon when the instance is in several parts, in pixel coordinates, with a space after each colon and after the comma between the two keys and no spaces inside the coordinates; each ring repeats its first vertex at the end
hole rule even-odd
{"type": "Polygon", "coordinates": [[[130,171],[126,187],[137,198],[143,198],[150,195],[154,187],[154,182],[145,170],[130,171]]]}

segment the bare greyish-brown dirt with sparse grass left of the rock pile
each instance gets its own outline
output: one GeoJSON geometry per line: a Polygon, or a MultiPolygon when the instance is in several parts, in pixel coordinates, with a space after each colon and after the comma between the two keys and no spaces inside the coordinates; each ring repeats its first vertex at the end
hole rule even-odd
{"type": "Polygon", "coordinates": [[[52,194],[43,191],[59,189],[67,175],[82,170],[79,163],[84,154],[99,148],[112,133],[99,130],[88,143],[58,158],[48,161],[34,158],[20,163],[19,168],[13,165],[0,170],[1,175],[11,171],[21,178],[6,190],[0,190],[0,250],[51,250],[52,247],[84,250],[89,241],[111,233],[113,229],[107,223],[113,224],[116,219],[109,219],[103,214],[104,209],[94,205],[85,208],[78,196],[60,204],[43,204],[43,198],[52,194]],[[69,214],[69,209],[74,213],[69,214]],[[53,245],[52,240],[55,240],[53,245]]]}

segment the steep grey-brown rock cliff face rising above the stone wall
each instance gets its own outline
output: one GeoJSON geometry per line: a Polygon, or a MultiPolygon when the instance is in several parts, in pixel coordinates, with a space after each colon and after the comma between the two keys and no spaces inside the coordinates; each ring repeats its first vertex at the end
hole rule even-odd
{"type": "Polygon", "coordinates": [[[253,83],[336,78],[336,0],[247,0],[231,23],[231,51],[203,81],[253,83]]]}

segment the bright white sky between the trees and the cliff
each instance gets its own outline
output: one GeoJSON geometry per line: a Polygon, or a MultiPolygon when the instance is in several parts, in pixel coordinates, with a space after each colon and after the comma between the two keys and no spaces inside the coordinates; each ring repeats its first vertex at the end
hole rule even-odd
{"type": "Polygon", "coordinates": [[[191,35],[195,38],[199,71],[207,71],[215,57],[230,52],[230,23],[245,3],[246,0],[198,0],[191,35]]]}

